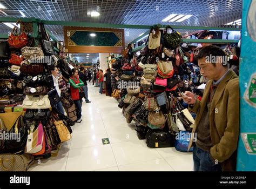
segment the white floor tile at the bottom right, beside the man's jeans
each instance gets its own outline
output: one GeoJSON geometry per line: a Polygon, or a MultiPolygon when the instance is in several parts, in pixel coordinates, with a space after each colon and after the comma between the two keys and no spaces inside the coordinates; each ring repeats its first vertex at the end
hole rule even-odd
{"type": "Polygon", "coordinates": [[[193,171],[192,153],[164,158],[175,171],[193,171]]]}

